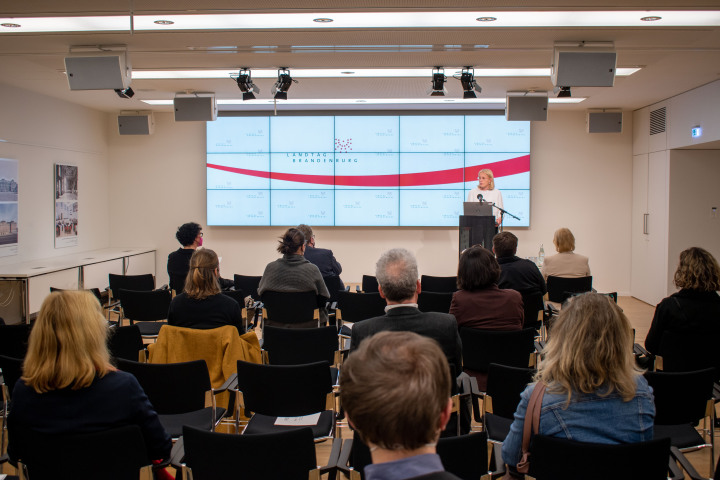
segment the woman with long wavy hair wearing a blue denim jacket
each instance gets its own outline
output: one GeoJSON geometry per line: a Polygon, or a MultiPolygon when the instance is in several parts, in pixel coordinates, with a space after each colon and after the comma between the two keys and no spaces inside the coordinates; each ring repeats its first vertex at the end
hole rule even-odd
{"type": "MultiPolygon", "coordinates": [[[[535,376],[547,385],[537,433],[606,444],[652,440],[652,388],[635,366],[632,346],[630,322],[606,296],[581,295],[563,307],[535,376]]],[[[525,412],[534,386],[522,393],[503,442],[503,460],[510,467],[522,455],[525,412]]]]}

